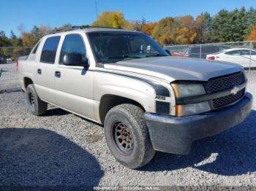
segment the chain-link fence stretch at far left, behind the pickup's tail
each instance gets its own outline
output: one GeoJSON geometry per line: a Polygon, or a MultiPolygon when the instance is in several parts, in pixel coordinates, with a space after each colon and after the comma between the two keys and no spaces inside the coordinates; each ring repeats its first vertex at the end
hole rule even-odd
{"type": "Polygon", "coordinates": [[[20,56],[29,55],[32,47],[0,47],[0,64],[14,63],[20,56]]]}

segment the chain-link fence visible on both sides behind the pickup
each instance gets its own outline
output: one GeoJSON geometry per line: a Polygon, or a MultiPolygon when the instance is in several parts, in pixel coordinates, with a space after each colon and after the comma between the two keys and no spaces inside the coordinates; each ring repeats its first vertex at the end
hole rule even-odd
{"type": "MultiPolygon", "coordinates": [[[[212,44],[165,45],[173,56],[229,61],[246,69],[256,69],[256,41],[212,44]]],[[[14,63],[29,55],[32,47],[0,47],[0,64],[14,63]]]]}

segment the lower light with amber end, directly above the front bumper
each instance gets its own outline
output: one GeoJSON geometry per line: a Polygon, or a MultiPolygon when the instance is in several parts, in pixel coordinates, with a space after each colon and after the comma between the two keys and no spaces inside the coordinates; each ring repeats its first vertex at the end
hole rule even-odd
{"type": "Polygon", "coordinates": [[[176,116],[184,117],[192,114],[208,112],[210,110],[211,108],[208,104],[208,101],[200,102],[197,104],[176,105],[176,116]]]}

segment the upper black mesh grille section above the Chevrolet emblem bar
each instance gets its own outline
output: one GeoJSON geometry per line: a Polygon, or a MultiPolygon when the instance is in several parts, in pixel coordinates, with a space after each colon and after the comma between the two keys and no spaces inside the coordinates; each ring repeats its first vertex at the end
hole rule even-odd
{"type": "Polygon", "coordinates": [[[206,82],[206,92],[215,93],[221,90],[233,88],[236,85],[241,85],[245,82],[242,72],[230,74],[224,77],[217,77],[206,82]]]}

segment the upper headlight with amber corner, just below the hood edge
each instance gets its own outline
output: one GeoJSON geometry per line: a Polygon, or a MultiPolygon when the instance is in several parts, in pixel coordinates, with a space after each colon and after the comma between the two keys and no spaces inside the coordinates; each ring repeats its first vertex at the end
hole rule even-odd
{"type": "Polygon", "coordinates": [[[206,94],[206,90],[201,84],[193,83],[173,83],[173,90],[176,98],[182,98],[192,95],[202,95],[206,94]]]}

